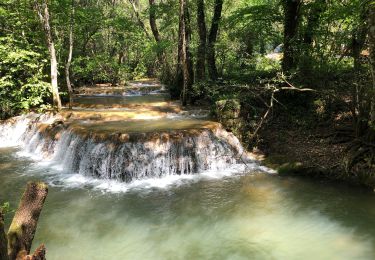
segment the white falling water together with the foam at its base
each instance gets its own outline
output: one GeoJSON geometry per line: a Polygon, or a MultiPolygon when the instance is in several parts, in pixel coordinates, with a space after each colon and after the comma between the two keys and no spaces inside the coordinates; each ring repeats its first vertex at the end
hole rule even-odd
{"type": "Polygon", "coordinates": [[[48,176],[53,186],[90,186],[118,193],[267,170],[244,156],[238,139],[222,129],[177,140],[160,137],[120,143],[95,141],[62,127],[55,140],[38,130],[39,123],[52,124],[56,119],[30,114],[0,125],[1,146],[19,146],[18,156],[33,159],[43,172],[53,169],[48,176]]]}

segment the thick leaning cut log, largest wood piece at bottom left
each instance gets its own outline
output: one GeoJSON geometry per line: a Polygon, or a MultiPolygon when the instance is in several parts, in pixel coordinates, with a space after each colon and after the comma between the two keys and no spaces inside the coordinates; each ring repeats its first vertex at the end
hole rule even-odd
{"type": "Polygon", "coordinates": [[[9,259],[30,253],[37,222],[47,197],[48,187],[44,183],[29,182],[8,232],[9,259]]]}

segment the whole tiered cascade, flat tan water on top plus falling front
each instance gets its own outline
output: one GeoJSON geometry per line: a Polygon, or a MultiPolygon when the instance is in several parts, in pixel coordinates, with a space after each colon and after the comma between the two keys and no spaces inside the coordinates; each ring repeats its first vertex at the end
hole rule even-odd
{"type": "Polygon", "coordinates": [[[121,97],[102,95],[100,100],[91,91],[95,98],[86,95],[84,104],[76,103],[73,111],[13,118],[0,125],[0,146],[21,146],[34,157],[58,163],[65,172],[122,182],[219,171],[251,160],[219,123],[160,102],[165,93],[159,88],[152,85],[149,91],[150,86],[139,82],[131,86],[129,96],[146,97],[138,107],[126,92],[121,97]],[[150,101],[150,95],[157,98],[150,101]],[[111,102],[113,107],[101,106],[111,102]]]}

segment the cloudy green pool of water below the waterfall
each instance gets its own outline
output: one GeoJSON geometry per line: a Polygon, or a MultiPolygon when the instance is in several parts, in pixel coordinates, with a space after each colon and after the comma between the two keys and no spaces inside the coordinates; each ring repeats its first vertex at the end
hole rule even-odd
{"type": "MultiPolygon", "coordinates": [[[[0,149],[0,201],[13,206],[28,180],[59,174],[15,152],[0,149]]],[[[146,186],[51,186],[34,246],[48,259],[375,259],[369,192],[266,174],[146,186]]]]}

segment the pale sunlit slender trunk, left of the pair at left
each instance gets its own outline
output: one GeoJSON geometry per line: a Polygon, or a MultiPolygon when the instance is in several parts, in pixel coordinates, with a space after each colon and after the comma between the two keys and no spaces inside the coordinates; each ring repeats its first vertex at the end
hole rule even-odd
{"type": "Polygon", "coordinates": [[[61,99],[59,95],[59,88],[57,84],[57,59],[56,59],[56,50],[55,50],[55,43],[52,37],[52,31],[50,26],[50,19],[49,19],[49,10],[47,5],[47,0],[43,0],[40,4],[38,0],[35,0],[35,8],[38,12],[38,16],[40,18],[40,22],[43,24],[44,31],[47,38],[47,45],[48,50],[50,53],[51,59],[51,85],[52,85],[52,96],[53,96],[53,104],[57,108],[57,110],[61,109],[61,99]]]}

